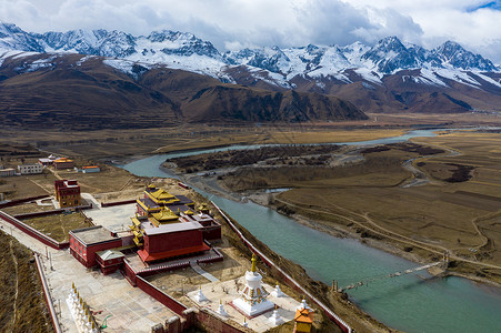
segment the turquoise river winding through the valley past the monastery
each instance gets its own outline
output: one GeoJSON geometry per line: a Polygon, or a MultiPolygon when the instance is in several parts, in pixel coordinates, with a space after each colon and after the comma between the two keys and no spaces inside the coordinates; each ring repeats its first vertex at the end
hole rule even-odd
{"type": "MultiPolygon", "coordinates": [[[[433,137],[433,130],[363,142],[340,144],[383,144],[414,137],[433,137]]],[[[160,169],[169,158],[228,149],[236,145],[190,152],[159,154],[121,165],[139,176],[173,176],[160,169]]],[[[236,202],[196,189],[227,211],[241,225],[278,254],[303,266],[308,274],[328,285],[340,286],[419,264],[367,246],[357,240],[339,239],[299,224],[275,211],[252,202],[236,202]]],[[[433,278],[425,271],[385,279],[358,290],[351,300],[384,324],[405,332],[501,332],[501,291],[467,279],[433,278]]],[[[335,311],[335,309],[334,309],[335,311]]]]}

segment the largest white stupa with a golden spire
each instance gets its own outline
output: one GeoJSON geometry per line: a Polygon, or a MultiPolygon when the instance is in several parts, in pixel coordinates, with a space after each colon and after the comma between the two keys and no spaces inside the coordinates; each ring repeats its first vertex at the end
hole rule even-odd
{"type": "Polygon", "coordinates": [[[252,268],[246,272],[246,285],[239,291],[240,297],[233,300],[233,306],[248,317],[274,309],[274,304],[268,301],[268,292],[262,287],[262,276],[255,270],[255,254],[252,254],[252,268]]]}

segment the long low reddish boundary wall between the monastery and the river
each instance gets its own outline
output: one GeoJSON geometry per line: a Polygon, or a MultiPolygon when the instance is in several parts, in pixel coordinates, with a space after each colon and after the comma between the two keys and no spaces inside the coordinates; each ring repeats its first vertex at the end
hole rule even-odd
{"type": "Polygon", "coordinates": [[[280,269],[275,263],[273,263],[268,256],[265,256],[261,251],[259,251],[249,240],[246,239],[246,236],[240,232],[240,230],[231,222],[231,220],[221,211],[221,209],[211,201],[211,203],[214,205],[214,208],[218,210],[218,212],[224,218],[224,220],[228,222],[230,228],[238,234],[238,236],[242,240],[242,242],[255,254],[258,254],[261,260],[274,268],[288,282],[290,286],[292,286],[295,290],[300,290],[304,295],[311,299],[322,311],[325,313],[325,315],[335,322],[335,324],[345,333],[351,333],[352,329],[350,325],[348,325],[343,320],[341,320],[333,311],[331,311],[325,304],[320,302],[315,296],[313,296],[308,290],[305,290],[301,284],[295,282],[292,276],[290,276],[288,273],[285,273],[282,269],[280,269]]]}

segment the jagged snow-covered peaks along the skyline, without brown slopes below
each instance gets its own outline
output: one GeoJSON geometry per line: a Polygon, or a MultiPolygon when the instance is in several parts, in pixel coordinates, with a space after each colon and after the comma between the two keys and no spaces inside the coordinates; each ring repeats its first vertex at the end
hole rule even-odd
{"type": "MultiPolygon", "coordinates": [[[[122,31],[72,30],[68,32],[30,33],[11,23],[0,24],[0,54],[12,56],[7,50],[44,53],[82,53],[123,59],[142,64],[164,64],[218,78],[223,82],[249,84],[237,73],[271,85],[295,88],[294,80],[315,81],[322,89],[325,78],[339,83],[367,81],[381,84],[385,75],[402,70],[419,69],[410,79],[417,83],[447,87],[453,80],[480,87],[478,75],[491,84],[501,84],[483,72],[500,69],[490,60],[448,41],[433,50],[415,44],[404,44],[397,37],[388,37],[375,46],[355,42],[345,47],[308,46],[302,48],[255,48],[240,51],[218,51],[211,42],[192,33],[153,31],[134,37],[122,31]],[[469,73],[475,73],[470,75],[469,73]]],[[[0,60],[1,61],[1,60],[0,60]]],[[[130,63],[108,61],[107,64],[127,71],[130,63]]]]}

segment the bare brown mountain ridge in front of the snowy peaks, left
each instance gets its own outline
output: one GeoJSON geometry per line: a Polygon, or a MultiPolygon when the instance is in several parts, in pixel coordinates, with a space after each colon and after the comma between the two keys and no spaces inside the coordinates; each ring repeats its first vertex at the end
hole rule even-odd
{"type": "Polygon", "coordinates": [[[270,91],[182,70],[134,64],[131,74],[81,54],[11,57],[0,67],[3,124],[74,130],[184,122],[361,120],[357,107],[317,92],[270,91]]]}

